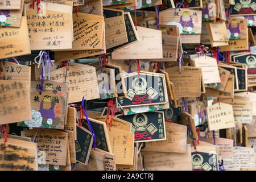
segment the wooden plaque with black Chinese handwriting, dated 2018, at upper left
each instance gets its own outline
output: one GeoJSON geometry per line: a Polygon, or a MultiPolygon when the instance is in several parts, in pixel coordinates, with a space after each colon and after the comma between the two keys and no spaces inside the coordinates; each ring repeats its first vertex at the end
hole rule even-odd
{"type": "Polygon", "coordinates": [[[46,2],[46,18],[25,4],[32,50],[72,48],[72,6],[46,2]]]}

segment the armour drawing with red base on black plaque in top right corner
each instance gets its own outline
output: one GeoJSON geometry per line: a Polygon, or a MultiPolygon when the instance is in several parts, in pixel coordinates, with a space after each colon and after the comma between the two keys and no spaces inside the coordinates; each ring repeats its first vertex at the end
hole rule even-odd
{"type": "Polygon", "coordinates": [[[238,11],[239,14],[253,14],[256,10],[256,3],[251,0],[240,0],[240,3],[236,3],[234,10],[238,11]]]}

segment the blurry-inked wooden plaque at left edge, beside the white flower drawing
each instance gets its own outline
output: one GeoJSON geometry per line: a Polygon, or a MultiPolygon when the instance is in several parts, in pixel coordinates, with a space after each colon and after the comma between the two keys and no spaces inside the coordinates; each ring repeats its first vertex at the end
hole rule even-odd
{"type": "Polygon", "coordinates": [[[0,124],[32,119],[27,81],[0,80],[0,124]]]}

